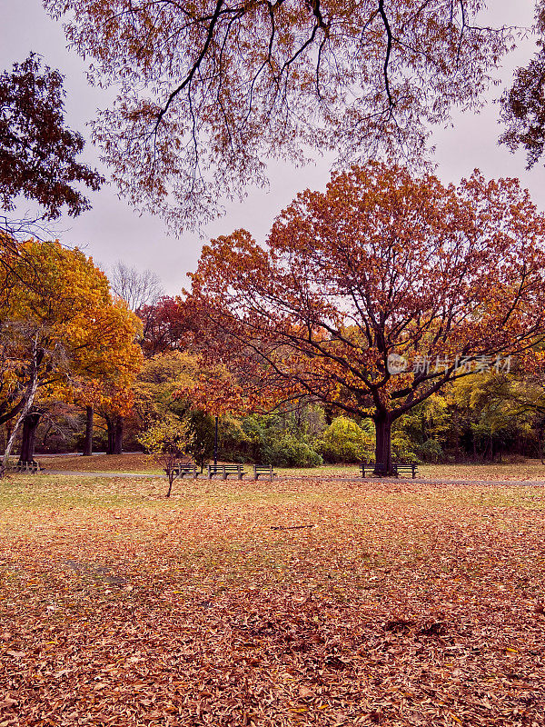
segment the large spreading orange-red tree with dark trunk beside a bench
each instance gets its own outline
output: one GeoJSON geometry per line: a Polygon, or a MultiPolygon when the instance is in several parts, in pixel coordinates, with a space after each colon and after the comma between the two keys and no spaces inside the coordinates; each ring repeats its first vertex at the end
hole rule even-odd
{"type": "Polygon", "coordinates": [[[244,230],[205,246],[188,317],[237,372],[237,402],[307,397],[371,417],[391,472],[395,420],[476,362],[543,339],[544,242],[516,180],[475,172],[455,187],[355,166],[299,194],[264,247],[244,230]]]}

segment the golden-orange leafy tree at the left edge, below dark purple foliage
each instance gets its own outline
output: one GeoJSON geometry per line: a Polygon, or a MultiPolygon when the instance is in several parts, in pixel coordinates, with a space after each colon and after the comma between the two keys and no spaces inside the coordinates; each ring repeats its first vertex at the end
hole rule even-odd
{"type": "Polygon", "coordinates": [[[134,377],[142,354],[134,339],[137,319],[114,302],[108,281],[80,250],[30,241],[25,254],[39,269],[14,267],[15,284],[0,310],[0,423],[15,419],[5,459],[19,427],[39,397],[74,396],[82,379],[134,377]]]}

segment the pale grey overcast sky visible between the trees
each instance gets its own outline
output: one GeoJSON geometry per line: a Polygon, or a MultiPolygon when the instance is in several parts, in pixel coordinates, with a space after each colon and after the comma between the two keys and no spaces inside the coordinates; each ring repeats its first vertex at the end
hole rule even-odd
{"type": "MultiPolygon", "coordinates": [[[[490,0],[490,19],[496,25],[530,25],[532,0],[490,0]]],[[[0,70],[23,61],[31,50],[44,56],[45,63],[65,75],[66,120],[87,136],[85,128],[96,108],[107,105],[104,92],[87,85],[83,61],[66,49],[63,29],[49,19],[40,0],[0,0],[0,70]]],[[[500,78],[510,82],[512,68],[523,65],[533,54],[531,38],[504,60],[500,78]]],[[[454,128],[434,134],[438,164],[437,174],[443,182],[457,182],[479,167],[488,177],[519,177],[530,189],[535,203],[545,209],[545,169],[541,164],[525,170],[525,154],[510,154],[497,144],[501,131],[499,107],[493,99],[501,95],[501,87],[490,92],[490,103],[480,115],[456,115],[454,128]]],[[[82,160],[99,166],[93,146],[85,146],[82,160]]],[[[107,175],[107,170],[102,170],[107,175]]],[[[272,164],[271,185],[267,191],[257,190],[243,204],[230,204],[228,214],[209,224],[204,238],[183,234],[176,239],[167,234],[163,221],[152,215],[134,214],[128,204],[117,198],[115,188],[105,185],[91,194],[93,209],[72,220],[64,218],[58,225],[59,236],[66,244],[79,245],[106,269],[117,260],[149,268],[163,280],[169,294],[176,294],[186,282],[185,273],[193,270],[202,245],[218,234],[229,234],[245,227],[263,241],[272,220],[306,187],[323,189],[329,179],[329,164],[321,159],[316,165],[295,169],[289,164],[272,164]]],[[[24,212],[21,207],[19,212],[24,212]]]]}

